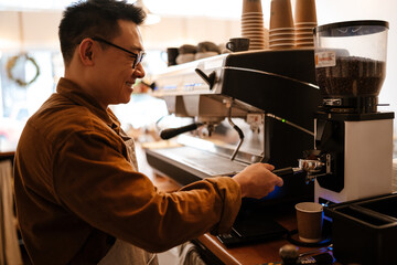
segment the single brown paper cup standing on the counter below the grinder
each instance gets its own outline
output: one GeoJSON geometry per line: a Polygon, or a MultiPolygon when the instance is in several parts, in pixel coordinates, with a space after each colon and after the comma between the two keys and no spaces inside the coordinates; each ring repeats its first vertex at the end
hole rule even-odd
{"type": "Polygon", "coordinates": [[[321,241],[323,206],[316,202],[301,202],[296,205],[298,234],[302,242],[321,241]]]}

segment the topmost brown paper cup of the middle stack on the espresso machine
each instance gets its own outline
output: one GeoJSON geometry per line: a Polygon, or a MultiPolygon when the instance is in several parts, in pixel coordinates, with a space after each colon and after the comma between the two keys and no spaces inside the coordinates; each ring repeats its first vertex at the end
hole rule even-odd
{"type": "Polygon", "coordinates": [[[293,28],[290,0],[271,0],[270,30],[278,28],[293,28]]]}

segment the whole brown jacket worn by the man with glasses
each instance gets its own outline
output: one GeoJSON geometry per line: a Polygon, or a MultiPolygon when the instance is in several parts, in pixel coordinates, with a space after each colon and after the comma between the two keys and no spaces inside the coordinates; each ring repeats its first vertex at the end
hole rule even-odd
{"type": "Polygon", "coordinates": [[[228,177],[162,193],[133,170],[120,124],[62,78],[29,119],[15,153],[22,237],[34,264],[96,264],[115,237],[162,252],[232,226],[242,199],[228,177]]]}

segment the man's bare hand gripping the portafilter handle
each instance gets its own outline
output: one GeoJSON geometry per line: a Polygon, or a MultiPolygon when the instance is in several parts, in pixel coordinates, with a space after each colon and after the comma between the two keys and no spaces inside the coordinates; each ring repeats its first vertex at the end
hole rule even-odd
{"type": "Polygon", "coordinates": [[[233,179],[242,188],[242,197],[260,199],[275,190],[275,186],[281,187],[283,181],[273,174],[275,167],[269,163],[253,163],[233,179]]]}

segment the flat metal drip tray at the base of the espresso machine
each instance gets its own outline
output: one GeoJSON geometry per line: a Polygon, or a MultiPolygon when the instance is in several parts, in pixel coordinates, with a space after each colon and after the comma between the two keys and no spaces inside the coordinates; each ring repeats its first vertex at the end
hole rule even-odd
{"type": "Polygon", "coordinates": [[[152,150],[185,167],[204,173],[206,177],[233,176],[242,171],[246,163],[232,161],[229,158],[193,147],[174,147],[152,150]]]}

